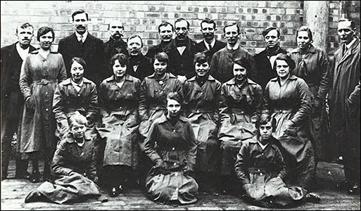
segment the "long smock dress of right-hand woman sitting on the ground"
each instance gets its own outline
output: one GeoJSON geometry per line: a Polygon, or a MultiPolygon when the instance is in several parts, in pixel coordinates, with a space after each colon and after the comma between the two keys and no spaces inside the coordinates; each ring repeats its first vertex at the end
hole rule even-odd
{"type": "Polygon", "coordinates": [[[275,143],[277,141],[272,137],[264,149],[256,136],[244,141],[237,154],[234,170],[247,195],[253,200],[268,200],[286,206],[303,200],[307,191],[298,186],[287,187],[284,183],[286,163],[275,143]]]}

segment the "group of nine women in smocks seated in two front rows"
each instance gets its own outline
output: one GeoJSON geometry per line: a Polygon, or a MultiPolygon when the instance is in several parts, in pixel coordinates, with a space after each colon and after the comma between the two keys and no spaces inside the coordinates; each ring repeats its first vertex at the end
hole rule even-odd
{"type": "MultiPolygon", "coordinates": [[[[86,69],[84,61],[75,58],[72,70],[79,64],[82,71],[86,69]]],[[[91,112],[96,109],[96,89],[84,94],[89,80],[76,79],[82,72],[72,72],[70,79],[81,89],[75,90],[74,85],[61,91],[67,80],[58,85],[53,108],[62,141],[51,166],[56,180],[53,186],[48,182],[39,186],[25,202],[99,198],[94,184],[99,176],[106,181],[110,196],[118,196],[135,178],[141,183],[145,180],[152,200],[167,204],[194,203],[198,184],[201,191],[211,192],[215,181],[224,187],[237,187],[240,181],[243,188],[235,191],[246,191],[247,198],[267,205],[319,200],[306,194],[315,177],[307,131],[310,91],[303,79],[291,74],[294,62],[288,56],[277,56],[278,77],[263,94],[260,85],[247,77],[247,60],[234,62],[234,78],[224,84],[209,74],[203,53],[195,56],[196,76],[184,84],[167,72],[165,53],[155,56],[155,72],[143,82],[127,74],[125,55],[115,55],[111,65],[114,75],[99,87],[98,122],[91,112]],[[142,152],[153,167],[145,165],[149,161],[140,156],[142,152]],[[137,171],[139,166],[148,172],[146,178],[137,171]],[[101,174],[94,174],[96,169],[101,174]],[[287,170],[298,177],[287,177],[287,170]]]]}

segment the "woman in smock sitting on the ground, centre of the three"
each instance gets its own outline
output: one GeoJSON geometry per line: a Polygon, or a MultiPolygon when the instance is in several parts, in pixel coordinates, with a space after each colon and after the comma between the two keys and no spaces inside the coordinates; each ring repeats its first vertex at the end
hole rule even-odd
{"type": "Polygon", "coordinates": [[[146,177],[146,189],[157,203],[195,203],[196,138],[189,121],[180,115],[182,97],[171,92],[166,102],[167,113],[153,122],[144,145],[154,164],[146,177]]]}

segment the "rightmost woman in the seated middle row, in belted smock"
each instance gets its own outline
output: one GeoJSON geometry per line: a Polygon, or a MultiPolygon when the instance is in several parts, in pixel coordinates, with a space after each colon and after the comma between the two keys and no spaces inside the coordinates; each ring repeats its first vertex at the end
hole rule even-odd
{"type": "Polygon", "coordinates": [[[274,138],[281,143],[289,178],[286,183],[308,189],[315,179],[315,153],[310,142],[311,93],[305,81],[291,73],[294,61],[280,53],[274,61],[277,77],[266,85],[265,109],[277,120],[274,138]]]}

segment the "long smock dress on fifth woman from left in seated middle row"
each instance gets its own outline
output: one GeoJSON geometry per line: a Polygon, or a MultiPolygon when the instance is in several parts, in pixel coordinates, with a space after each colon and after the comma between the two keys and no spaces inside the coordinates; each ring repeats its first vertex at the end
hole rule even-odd
{"type": "Polygon", "coordinates": [[[251,79],[246,79],[241,88],[235,79],[222,84],[220,96],[220,131],[222,176],[232,176],[236,155],[242,141],[255,136],[257,129],[253,122],[260,115],[262,88],[251,79]]]}

